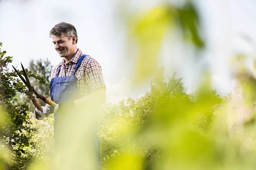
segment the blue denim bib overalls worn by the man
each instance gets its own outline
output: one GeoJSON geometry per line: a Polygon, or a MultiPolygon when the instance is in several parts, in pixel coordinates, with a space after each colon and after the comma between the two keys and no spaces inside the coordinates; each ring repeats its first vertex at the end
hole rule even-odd
{"type": "MultiPolygon", "coordinates": [[[[51,80],[51,85],[50,85],[50,94],[51,94],[51,100],[55,103],[60,103],[60,102],[67,102],[70,100],[76,100],[81,98],[79,95],[79,89],[77,86],[76,82],[76,76],[75,73],[79,69],[82,60],[84,57],[87,55],[82,55],[78,62],[75,65],[75,68],[72,71],[71,76],[67,77],[58,77],[60,70],[61,70],[61,65],[58,67],[57,74],[55,78],[51,80]]],[[[58,142],[63,142],[63,141],[58,141],[57,135],[61,132],[61,128],[58,128],[58,123],[61,122],[61,113],[54,113],[54,138],[55,138],[55,150],[58,152],[58,142]]],[[[72,132],[71,132],[72,133],[72,132]]],[[[96,137],[96,152],[97,152],[97,161],[98,161],[98,167],[100,167],[100,144],[99,144],[99,139],[96,137]]]]}

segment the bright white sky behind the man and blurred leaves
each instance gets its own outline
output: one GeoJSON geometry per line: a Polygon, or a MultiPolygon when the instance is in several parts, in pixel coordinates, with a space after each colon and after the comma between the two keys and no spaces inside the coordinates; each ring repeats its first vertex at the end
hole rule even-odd
{"type": "MultiPolygon", "coordinates": [[[[172,0],[175,1],[175,0],[172,0]]],[[[31,59],[49,58],[52,65],[61,61],[49,37],[50,29],[62,21],[73,24],[78,31],[78,47],[94,57],[102,66],[107,85],[108,102],[127,96],[143,95],[149,88],[131,88],[129,62],[125,54],[126,26],[120,8],[129,12],[149,9],[160,0],[1,0],[0,41],[2,50],[14,56],[12,63],[26,67],[31,59]],[[127,64],[128,63],[128,64],[127,64]]],[[[207,40],[207,51],[193,59],[190,50],[183,50],[179,35],[165,38],[160,63],[172,75],[177,71],[188,91],[199,81],[200,70],[211,68],[213,88],[226,95],[231,91],[229,59],[234,52],[255,54],[253,46],[239,37],[246,34],[256,39],[256,1],[197,0],[207,40]],[[170,48],[171,47],[171,48],[170,48]],[[175,47],[175,48],[172,48],[175,47]]],[[[133,57],[131,56],[131,59],[133,57]]]]}

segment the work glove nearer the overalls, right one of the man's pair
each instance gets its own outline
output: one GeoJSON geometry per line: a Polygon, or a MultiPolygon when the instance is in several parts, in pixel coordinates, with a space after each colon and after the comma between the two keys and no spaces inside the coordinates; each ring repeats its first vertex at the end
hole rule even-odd
{"type": "Polygon", "coordinates": [[[75,103],[73,100],[67,101],[67,102],[60,102],[58,105],[54,107],[53,112],[54,113],[72,113],[75,111],[75,103]]]}

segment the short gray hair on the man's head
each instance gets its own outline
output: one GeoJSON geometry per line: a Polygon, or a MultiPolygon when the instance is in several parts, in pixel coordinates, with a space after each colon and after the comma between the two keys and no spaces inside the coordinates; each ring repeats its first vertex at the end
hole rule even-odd
{"type": "Polygon", "coordinates": [[[61,36],[61,34],[64,33],[67,37],[72,38],[74,35],[76,36],[76,43],[78,41],[76,28],[69,24],[69,23],[58,23],[56,24],[50,31],[50,37],[52,35],[58,35],[61,36]]]}

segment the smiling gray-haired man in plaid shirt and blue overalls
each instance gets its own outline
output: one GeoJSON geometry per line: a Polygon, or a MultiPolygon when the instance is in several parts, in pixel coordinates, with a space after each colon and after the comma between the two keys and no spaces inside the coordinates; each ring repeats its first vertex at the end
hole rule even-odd
{"type": "MultiPolygon", "coordinates": [[[[73,138],[81,141],[96,136],[96,111],[105,102],[106,91],[101,66],[77,47],[78,36],[73,25],[64,22],[56,24],[50,31],[50,37],[62,58],[53,68],[49,92],[52,101],[58,105],[55,108],[45,105],[43,112],[35,109],[35,114],[37,119],[44,119],[54,112],[55,150],[60,152],[72,146],[73,138]],[[92,131],[91,136],[83,136],[85,132],[89,133],[88,128],[92,131]]],[[[99,143],[97,137],[95,139],[91,143],[96,143],[93,148],[99,163],[99,143]]]]}

